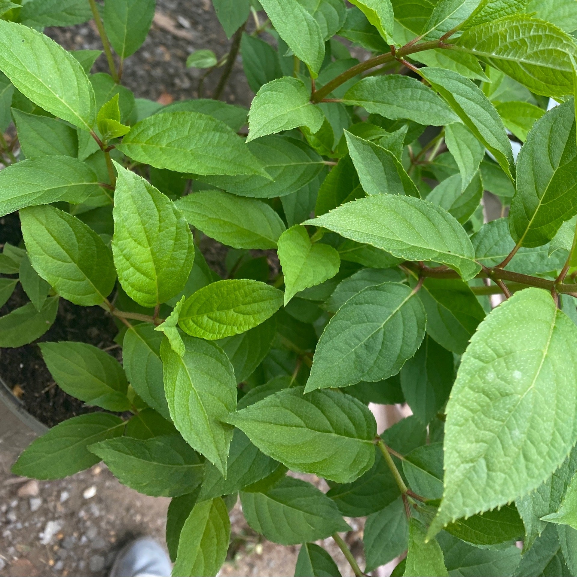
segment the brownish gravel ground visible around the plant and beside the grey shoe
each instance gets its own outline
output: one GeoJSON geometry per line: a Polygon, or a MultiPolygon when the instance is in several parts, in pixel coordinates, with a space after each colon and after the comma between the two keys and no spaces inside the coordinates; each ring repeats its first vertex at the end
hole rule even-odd
{"type": "MultiPolygon", "coordinates": [[[[93,23],[47,33],[68,49],[101,49],[93,23]]],[[[217,57],[228,50],[210,0],[157,0],[151,33],[125,62],[123,84],[137,98],[164,104],[198,98],[202,72],[186,69],[185,61],[199,48],[211,48],[217,57]]],[[[103,56],[93,71],[108,71],[103,56]]],[[[219,76],[220,70],[207,78],[204,96],[211,95],[219,76]]],[[[252,98],[238,61],[223,99],[248,107],[252,98]]],[[[0,575],[108,575],[115,554],[130,539],[151,535],[164,543],[169,500],[146,497],[119,484],[103,464],[59,481],[14,477],[10,466],[32,438],[0,404],[0,575]]],[[[307,480],[320,484],[318,479],[307,480]]],[[[298,546],[265,541],[248,527],[238,503],[231,522],[230,560],[221,575],[294,574],[298,546]]],[[[351,526],[354,531],[346,539],[362,557],[362,526],[355,521],[351,526]]],[[[332,539],[325,541],[319,544],[337,561],[342,575],[352,575],[332,539]]]]}

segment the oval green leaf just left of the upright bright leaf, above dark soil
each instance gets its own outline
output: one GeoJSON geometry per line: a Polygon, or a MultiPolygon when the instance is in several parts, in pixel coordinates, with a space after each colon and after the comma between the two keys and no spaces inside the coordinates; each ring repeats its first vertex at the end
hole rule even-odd
{"type": "Polygon", "coordinates": [[[54,290],[76,305],[98,305],[116,273],[110,250],[86,224],[49,205],[20,211],[28,258],[54,290]]]}

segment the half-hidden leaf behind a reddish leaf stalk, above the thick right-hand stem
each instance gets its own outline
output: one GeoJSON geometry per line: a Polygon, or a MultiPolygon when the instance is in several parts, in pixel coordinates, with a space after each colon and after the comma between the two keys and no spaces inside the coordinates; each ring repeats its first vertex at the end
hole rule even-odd
{"type": "MultiPolygon", "coordinates": [[[[573,233],[571,230],[571,240],[573,233]]],[[[509,222],[500,218],[484,224],[477,233],[471,237],[471,242],[475,248],[477,261],[485,267],[496,267],[502,263],[505,257],[515,248],[515,241],[509,234],[509,222]]],[[[522,246],[515,256],[509,261],[505,268],[507,271],[518,272],[522,275],[539,275],[545,272],[555,271],[563,268],[567,252],[549,253],[553,247],[553,241],[535,248],[522,246]]]]}

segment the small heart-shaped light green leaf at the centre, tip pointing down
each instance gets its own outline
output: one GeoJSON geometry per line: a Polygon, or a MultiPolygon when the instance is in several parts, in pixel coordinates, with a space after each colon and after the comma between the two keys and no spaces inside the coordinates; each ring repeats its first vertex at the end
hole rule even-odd
{"type": "Polygon", "coordinates": [[[305,288],[316,286],[339,272],[339,253],[330,245],[310,242],[299,224],[279,238],[279,260],[284,273],[284,304],[305,288]]]}

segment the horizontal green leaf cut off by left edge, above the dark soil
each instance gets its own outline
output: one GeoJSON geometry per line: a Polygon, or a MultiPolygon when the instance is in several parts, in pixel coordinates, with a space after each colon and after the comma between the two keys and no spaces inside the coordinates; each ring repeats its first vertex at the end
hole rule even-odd
{"type": "Polygon", "coordinates": [[[0,214],[62,201],[80,204],[99,191],[94,171],[76,158],[31,158],[0,173],[0,214]]]}

